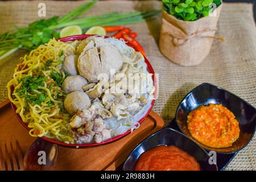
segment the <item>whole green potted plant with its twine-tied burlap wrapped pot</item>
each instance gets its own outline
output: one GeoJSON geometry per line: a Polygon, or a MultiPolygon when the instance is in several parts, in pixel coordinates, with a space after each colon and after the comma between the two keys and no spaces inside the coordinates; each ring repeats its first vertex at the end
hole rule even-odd
{"type": "Polygon", "coordinates": [[[200,64],[210,52],[222,7],[221,0],[162,0],[160,51],[184,66],[200,64]]]}

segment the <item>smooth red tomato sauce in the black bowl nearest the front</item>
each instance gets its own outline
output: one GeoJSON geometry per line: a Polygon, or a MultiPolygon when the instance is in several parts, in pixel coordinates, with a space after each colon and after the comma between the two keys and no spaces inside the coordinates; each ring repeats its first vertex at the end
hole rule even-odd
{"type": "Polygon", "coordinates": [[[200,171],[200,165],[180,148],[158,146],[139,157],[135,171],[200,171]]]}

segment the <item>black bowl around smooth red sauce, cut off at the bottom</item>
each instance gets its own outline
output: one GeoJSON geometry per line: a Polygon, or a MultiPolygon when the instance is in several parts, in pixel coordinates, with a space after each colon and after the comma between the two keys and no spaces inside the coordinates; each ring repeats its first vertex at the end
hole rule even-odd
{"type": "Polygon", "coordinates": [[[151,148],[157,146],[176,146],[181,150],[188,152],[189,155],[193,156],[200,164],[200,168],[203,171],[217,171],[217,165],[210,163],[213,158],[210,158],[208,153],[200,147],[196,142],[186,137],[184,134],[174,129],[165,128],[144,139],[138,146],[131,152],[123,164],[124,171],[133,171],[139,159],[139,156],[151,148]]]}

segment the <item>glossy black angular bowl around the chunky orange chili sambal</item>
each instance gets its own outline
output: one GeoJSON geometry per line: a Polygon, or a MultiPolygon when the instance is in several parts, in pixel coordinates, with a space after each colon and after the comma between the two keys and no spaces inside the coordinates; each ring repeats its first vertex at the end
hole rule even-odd
{"type": "Polygon", "coordinates": [[[232,154],[244,148],[253,138],[256,126],[256,109],[240,97],[218,86],[204,83],[197,86],[180,102],[176,110],[175,120],[180,131],[208,151],[220,154],[232,154]],[[240,137],[231,147],[212,148],[197,141],[188,131],[188,114],[201,105],[222,104],[227,107],[240,123],[240,137]]]}

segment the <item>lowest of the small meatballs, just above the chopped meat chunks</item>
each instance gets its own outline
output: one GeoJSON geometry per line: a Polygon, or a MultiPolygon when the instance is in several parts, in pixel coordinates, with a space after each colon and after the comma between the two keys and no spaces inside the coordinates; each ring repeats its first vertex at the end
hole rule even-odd
{"type": "Polygon", "coordinates": [[[74,115],[77,110],[90,107],[90,98],[81,91],[71,92],[64,100],[64,107],[69,114],[74,115]]]}

